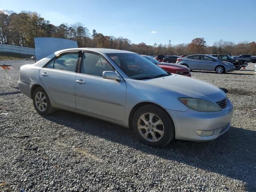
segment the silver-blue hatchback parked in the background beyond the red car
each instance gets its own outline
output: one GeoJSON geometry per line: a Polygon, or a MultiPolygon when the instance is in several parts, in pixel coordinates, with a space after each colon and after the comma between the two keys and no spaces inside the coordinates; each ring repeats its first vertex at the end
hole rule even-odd
{"type": "Polygon", "coordinates": [[[190,70],[215,71],[216,73],[225,73],[235,70],[232,63],[218,60],[210,55],[189,55],[178,58],[176,64],[184,65],[190,70]]]}

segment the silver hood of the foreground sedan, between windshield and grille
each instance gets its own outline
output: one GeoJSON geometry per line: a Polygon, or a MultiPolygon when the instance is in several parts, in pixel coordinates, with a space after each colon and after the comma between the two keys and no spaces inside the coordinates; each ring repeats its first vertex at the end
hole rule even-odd
{"type": "Polygon", "coordinates": [[[191,77],[172,74],[163,78],[143,80],[146,84],[160,86],[180,94],[180,96],[199,98],[216,102],[226,97],[220,88],[191,77]]]}

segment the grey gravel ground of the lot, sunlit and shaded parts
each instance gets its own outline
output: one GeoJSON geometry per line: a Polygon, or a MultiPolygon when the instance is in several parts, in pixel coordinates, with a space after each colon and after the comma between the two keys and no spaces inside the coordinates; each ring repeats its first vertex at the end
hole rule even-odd
{"type": "MultiPolygon", "coordinates": [[[[20,66],[33,62],[9,63],[18,81],[20,66]]],[[[232,127],[211,142],[174,140],[156,149],[139,142],[132,130],[87,116],[62,110],[40,116],[30,98],[6,86],[0,71],[0,114],[8,113],[0,115],[0,192],[256,191],[253,64],[192,76],[228,90],[232,127]]]]}

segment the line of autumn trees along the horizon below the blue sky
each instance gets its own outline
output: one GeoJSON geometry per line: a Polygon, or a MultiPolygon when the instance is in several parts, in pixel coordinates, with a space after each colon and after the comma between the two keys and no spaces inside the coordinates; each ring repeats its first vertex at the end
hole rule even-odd
{"type": "Polygon", "coordinates": [[[81,23],[54,26],[36,12],[22,11],[7,14],[0,10],[0,44],[34,47],[34,37],[56,37],[75,40],[78,47],[112,48],[128,50],[145,55],[189,55],[189,54],[251,54],[256,55],[255,42],[234,42],[219,40],[208,46],[204,38],[195,38],[189,44],[146,45],[133,44],[129,39],[104,36],[96,30],[90,34],[81,23]]]}

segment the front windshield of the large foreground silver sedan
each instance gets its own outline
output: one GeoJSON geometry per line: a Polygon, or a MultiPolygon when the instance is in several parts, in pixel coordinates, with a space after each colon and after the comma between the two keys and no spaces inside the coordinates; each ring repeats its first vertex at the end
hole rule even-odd
{"type": "Polygon", "coordinates": [[[138,54],[107,54],[119,68],[130,78],[152,79],[169,74],[138,54]]]}

